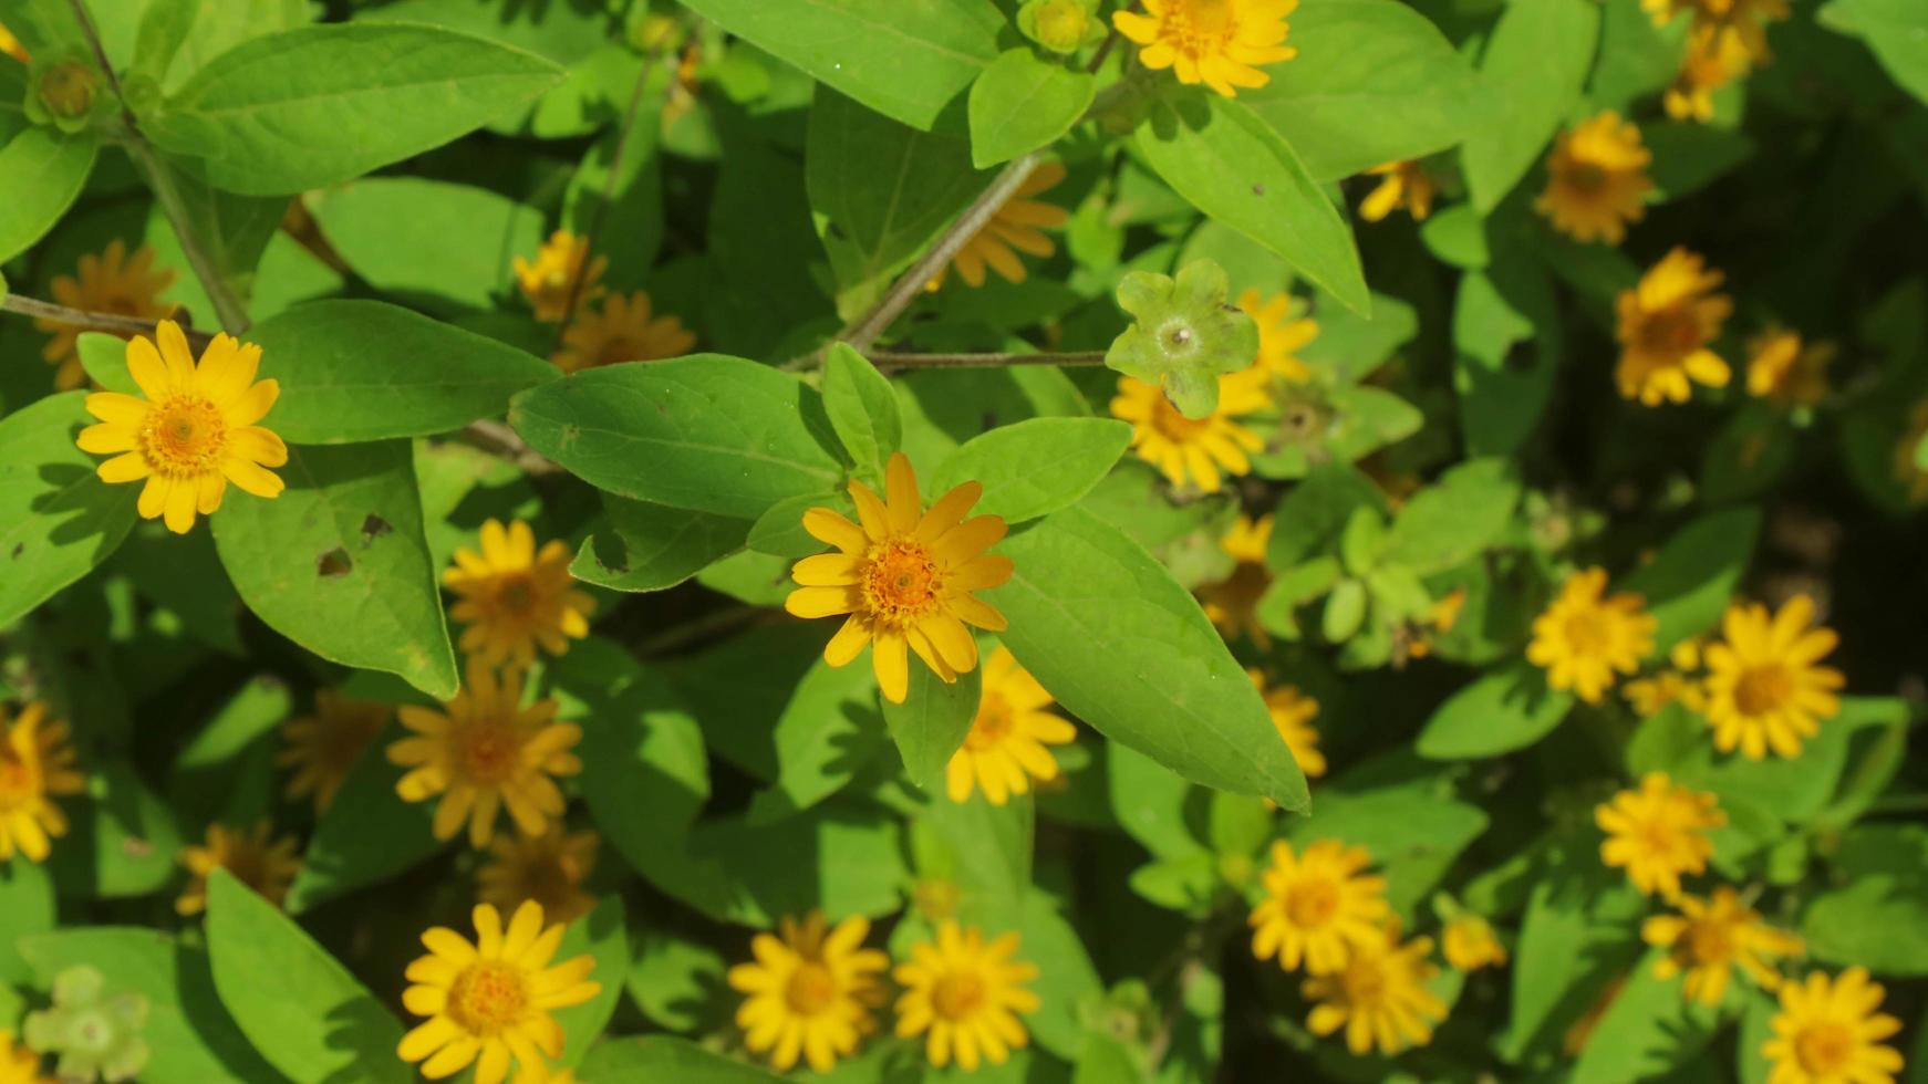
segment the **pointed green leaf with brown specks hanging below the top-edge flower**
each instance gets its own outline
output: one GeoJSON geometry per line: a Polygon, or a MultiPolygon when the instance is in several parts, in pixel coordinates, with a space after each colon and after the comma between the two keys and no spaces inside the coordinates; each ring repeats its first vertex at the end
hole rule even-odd
{"type": "Polygon", "coordinates": [[[1272,250],[1348,308],[1371,308],[1346,219],[1292,144],[1244,104],[1193,96],[1176,112],[1155,114],[1134,146],[1201,212],[1272,250]]]}

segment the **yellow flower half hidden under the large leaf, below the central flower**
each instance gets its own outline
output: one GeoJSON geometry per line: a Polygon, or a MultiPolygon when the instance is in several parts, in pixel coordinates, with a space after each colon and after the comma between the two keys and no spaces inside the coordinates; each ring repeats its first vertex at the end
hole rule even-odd
{"type": "Polygon", "coordinates": [[[977,718],[945,772],[951,801],[968,801],[972,789],[983,787],[985,801],[1004,805],[1010,795],[1030,791],[1031,778],[1058,778],[1058,761],[1047,745],[1064,745],[1078,737],[1078,728],[1045,710],[1051,703],[1037,678],[999,645],[983,662],[977,718]]]}

